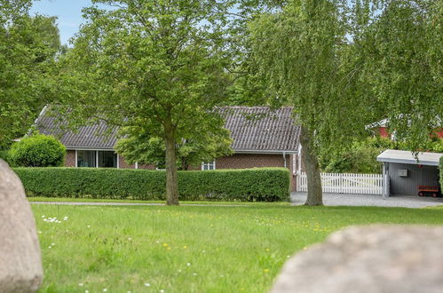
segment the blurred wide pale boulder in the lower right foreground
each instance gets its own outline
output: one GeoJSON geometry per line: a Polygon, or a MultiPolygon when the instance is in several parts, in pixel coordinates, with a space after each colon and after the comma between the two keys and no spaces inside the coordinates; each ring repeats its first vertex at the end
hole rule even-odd
{"type": "Polygon", "coordinates": [[[273,293],[443,292],[443,227],[355,226],[291,257],[273,293]]]}

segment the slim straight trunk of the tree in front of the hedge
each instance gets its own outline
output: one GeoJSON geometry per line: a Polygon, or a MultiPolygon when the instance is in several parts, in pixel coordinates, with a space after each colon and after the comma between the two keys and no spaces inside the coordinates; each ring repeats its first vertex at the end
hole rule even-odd
{"type": "Polygon", "coordinates": [[[175,130],[169,117],[164,123],[166,145],[166,204],[178,205],[178,178],[176,162],[175,130]]]}

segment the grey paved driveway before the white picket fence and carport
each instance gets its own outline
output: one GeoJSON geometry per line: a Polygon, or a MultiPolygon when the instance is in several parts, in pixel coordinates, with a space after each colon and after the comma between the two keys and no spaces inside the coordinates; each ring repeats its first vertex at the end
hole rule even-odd
{"type": "MultiPolygon", "coordinates": [[[[292,193],[293,205],[301,205],[306,201],[306,193],[292,193]]],[[[376,207],[404,207],[423,208],[429,206],[443,205],[443,197],[420,197],[416,196],[390,196],[383,199],[378,194],[323,194],[323,204],[328,206],[376,206],[376,207]]]]}

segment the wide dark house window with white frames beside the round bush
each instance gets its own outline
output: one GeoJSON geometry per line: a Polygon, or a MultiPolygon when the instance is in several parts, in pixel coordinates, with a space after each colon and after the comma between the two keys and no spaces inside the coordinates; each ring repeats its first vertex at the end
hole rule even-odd
{"type": "Polygon", "coordinates": [[[77,167],[117,168],[117,160],[113,151],[77,150],[77,167]]]}

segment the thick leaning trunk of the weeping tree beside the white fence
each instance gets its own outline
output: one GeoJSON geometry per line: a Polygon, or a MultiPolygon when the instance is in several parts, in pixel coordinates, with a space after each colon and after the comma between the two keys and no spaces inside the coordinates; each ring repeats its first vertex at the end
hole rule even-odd
{"type": "Polygon", "coordinates": [[[308,179],[308,196],[305,205],[323,205],[319,160],[312,147],[312,133],[303,126],[300,133],[300,144],[308,179]]]}

